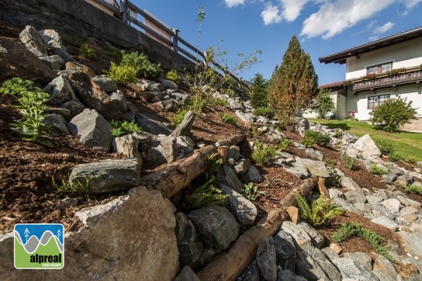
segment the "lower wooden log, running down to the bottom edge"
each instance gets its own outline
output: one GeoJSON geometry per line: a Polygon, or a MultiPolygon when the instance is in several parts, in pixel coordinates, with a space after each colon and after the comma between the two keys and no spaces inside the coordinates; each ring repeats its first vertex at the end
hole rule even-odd
{"type": "Polygon", "coordinates": [[[258,244],[269,236],[273,236],[279,230],[281,223],[286,220],[286,208],[295,204],[294,195],[299,193],[304,196],[316,185],[316,178],[307,178],[299,188],[291,190],[286,197],[281,200],[281,208],[271,211],[267,217],[246,230],[238,237],[233,247],[228,252],[217,256],[202,270],[198,272],[201,281],[215,280],[236,280],[243,270],[252,262],[255,257],[258,244]]]}

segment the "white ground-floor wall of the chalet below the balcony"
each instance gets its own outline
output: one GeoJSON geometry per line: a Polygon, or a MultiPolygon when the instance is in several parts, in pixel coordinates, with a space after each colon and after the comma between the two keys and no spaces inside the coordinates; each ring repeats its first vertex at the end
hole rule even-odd
{"type": "Polygon", "coordinates": [[[376,92],[372,91],[362,91],[354,95],[352,93],[352,86],[348,87],[347,90],[347,104],[346,112],[353,111],[355,112],[354,117],[359,120],[368,120],[371,118],[368,109],[368,97],[369,96],[379,96],[390,94],[390,98],[397,98],[398,96],[402,98],[407,98],[407,100],[412,100],[413,107],[419,107],[418,117],[422,117],[422,88],[416,88],[415,84],[409,84],[404,86],[398,86],[397,91],[394,91],[392,88],[387,89],[377,89],[376,92]]]}

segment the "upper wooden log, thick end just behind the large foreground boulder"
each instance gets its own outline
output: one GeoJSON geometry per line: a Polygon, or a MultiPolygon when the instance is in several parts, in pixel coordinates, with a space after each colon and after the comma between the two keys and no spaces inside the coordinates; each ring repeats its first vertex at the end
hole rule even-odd
{"type": "Polygon", "coordinates": [[[196,150],[190,157],[179,159],[159,171],[141,178],[139,185],[147,190],[158,190],[162,197],[170,198],[207,169],[207,157],[217,152],[214,145],[196,150]]]}

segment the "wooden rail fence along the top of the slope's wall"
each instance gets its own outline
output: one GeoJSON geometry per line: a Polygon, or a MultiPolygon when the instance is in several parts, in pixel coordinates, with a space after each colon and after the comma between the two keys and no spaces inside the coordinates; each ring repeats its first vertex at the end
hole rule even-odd
{"type": "MultiPolygon", "coordinates": [[[[186,58],[192,60],[194,63],[204,62],[205,61],[205,52],[200,51],[195,46],[188,43],[188,41],[184,40],[183,38],[179,37],[179,30],[177,28],[169,28],[164,25],[160,20],[154,18],[151,14],[146,11],[143,11],[141,8],[137,7],[129,0],[120,0],[120,3],[114,0],[113,5],[109,4],[104,0],[91,0],[94,1],[96,4],[107,8],[109,11],[112,11],[117,18],[120,20],[127,22],[129,25],[136,25],[137,27],[144,30],[146,34],[151,34],[151,37],[159,41],[160,43],[164,44],[165,46],[171,46],[173,51],[184,55],[186,58]],[[159,30],[164,32],[165,34],[169,35],[171,39],[168,37],[162,36],[159,32],[154,30],[153,28],[145,25],[143,22],[139,21],[137,18],[134,18],[130,11],[134,11],[136,14],[141,15],[145,20],[151,22],[155,27],[158,27],[159,30]]],[[[226,67],[219,65],[217,62],[212,62],[218,70],[223,72],[226,75],[232,77],[235,81],[239,84],[243,84],[243,86],[247,86],[241,79],[236,77],[234,74],[226,70],[226,67]]]]}

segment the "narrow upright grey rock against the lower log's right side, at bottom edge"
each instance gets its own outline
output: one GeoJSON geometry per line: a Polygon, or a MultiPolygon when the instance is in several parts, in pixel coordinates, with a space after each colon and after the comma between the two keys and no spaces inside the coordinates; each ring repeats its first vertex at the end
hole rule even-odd
{"type": "Polygon", "coordinates": [[[264,238],[258,245],[257,265],[260,268],[264,280],[276,281],[276,249],[274,249],[273,237],[264,238]]]}

